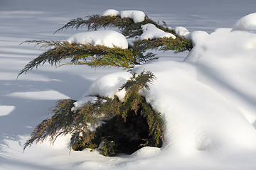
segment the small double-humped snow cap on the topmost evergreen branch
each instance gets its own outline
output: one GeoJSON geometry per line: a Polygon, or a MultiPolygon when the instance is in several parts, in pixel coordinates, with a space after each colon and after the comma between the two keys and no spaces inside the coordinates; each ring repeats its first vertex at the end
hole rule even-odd
{"type": "Polygon", "coordinates": [[[132,18],[134,23],[140,23],[145,20],[146,14],[143,11],[127,10],[117,11],[114,9],[108,9],[102,13],[102,16],[120,16],[121,18],[132,18]]]}

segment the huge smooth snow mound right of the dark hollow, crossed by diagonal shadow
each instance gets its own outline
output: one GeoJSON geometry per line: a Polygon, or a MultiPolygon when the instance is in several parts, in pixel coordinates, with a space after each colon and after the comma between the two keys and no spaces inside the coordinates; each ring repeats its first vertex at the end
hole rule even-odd
{"type": "Polygon", "coordinates": [[[256,35],[217,30],[192,33],[191,39],[196,46],[184,62],[134,69],[156,76],[144,96],[165,120],[165,148],[183,155],[230,154],[241,148],[255,152],[256,35]]]}

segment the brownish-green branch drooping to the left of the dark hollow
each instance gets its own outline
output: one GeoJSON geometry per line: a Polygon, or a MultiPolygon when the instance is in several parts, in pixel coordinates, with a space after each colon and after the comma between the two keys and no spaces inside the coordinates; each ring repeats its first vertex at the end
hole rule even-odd
{"type": "MultiPolygon", "coordinates": [[[[95,103],[89,102],[77,111],[71,111],[74,102],[74,100],[70,99],[58,101],[56,106],[52,108],[54,115],[51,118],[43,120],[41,124],[36,126],[31,134],[31,138],[23,145],[23,149],[31,146],[34,141],[36,141],[36,143],[43,142],[47,140],[48,137],[51,144],[53,144],[55,139],[60,135],[72,134],[74,135],[73,140],[77,140],[75,134],[80,134],[80,132],[83,133],[83,137],[85,137],[86,140],[89,140],[89,138],[92,140],[93,133],[90,132],[88,123],[90,123],[92,127],[98,125],[98,120],[102,117],[102,112],[97,112],[97,108],[99,108],[102,100],[98,98],[95,103]]],[[[102,119],[110,118],[111,116],[111,113],[105,114],[102,119]]],[[[72,144],[75,143],[73,140],[71,140],[72,144]]]]}

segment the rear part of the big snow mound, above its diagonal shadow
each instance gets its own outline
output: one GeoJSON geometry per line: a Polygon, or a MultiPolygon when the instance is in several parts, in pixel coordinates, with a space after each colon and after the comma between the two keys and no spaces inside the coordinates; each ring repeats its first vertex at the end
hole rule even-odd
{"type": "Polygon", "coordinates": [[[245,118],[250,123],[255,122],[256,91],[252,91],[256,84],[253,75],[256,72],[255,33],[218,29],[202,38],[201,42],[195,35],[192,34],[192,40],[198,42],[186,57],[186,62],[198,65],[198,69],[203,71],[203,81],[213,83],[211,86],[220,93],[225,92],[223,95],[240,106],[245,118]]]}

